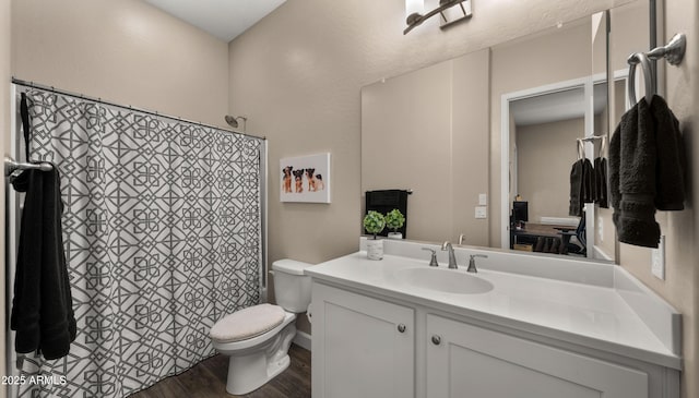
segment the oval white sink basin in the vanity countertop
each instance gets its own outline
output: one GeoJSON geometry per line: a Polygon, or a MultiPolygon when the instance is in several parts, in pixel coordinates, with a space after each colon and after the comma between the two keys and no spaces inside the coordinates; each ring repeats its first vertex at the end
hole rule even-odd
{"type": "Polygon", "coordinates": [[[407,268],[395,277],[410,286],[455,294],[478,294],[493,290],[493,284],[464,269],[407,268]]]}

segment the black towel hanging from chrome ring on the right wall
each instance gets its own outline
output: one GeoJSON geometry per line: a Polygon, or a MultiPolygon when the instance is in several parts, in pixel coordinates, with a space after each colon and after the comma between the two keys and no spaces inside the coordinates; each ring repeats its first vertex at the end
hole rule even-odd
{"type": "Polygon", "coordinates": [[[621,117],[609,143],[609,197],[620,242],[657,248],[655,208],[684,208],[684,148],[665,100],[640,100],[621,117]]]}

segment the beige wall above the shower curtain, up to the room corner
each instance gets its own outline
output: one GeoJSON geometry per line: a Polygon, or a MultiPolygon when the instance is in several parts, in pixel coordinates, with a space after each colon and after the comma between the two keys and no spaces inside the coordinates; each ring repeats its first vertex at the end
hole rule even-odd
{"type": "Polygon", "coordinates": [[[15,77],[225,125],[227,44],[138,0],[13,0],[15,77]]]}

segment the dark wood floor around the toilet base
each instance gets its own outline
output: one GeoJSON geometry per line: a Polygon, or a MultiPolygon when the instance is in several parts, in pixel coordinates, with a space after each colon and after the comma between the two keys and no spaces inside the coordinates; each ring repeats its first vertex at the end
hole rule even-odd
{"type": "MultiPolygon", "coordinates": [[[[296,345],[288,350],[292,363],[286,371],[261,388],[240,396],[246,398],[309,398],[310,351],[296,345]]],[[[228,359],[212,357],[189,371],[165,378],[129,398],[230,398],[226,393],[228,359]]]]}

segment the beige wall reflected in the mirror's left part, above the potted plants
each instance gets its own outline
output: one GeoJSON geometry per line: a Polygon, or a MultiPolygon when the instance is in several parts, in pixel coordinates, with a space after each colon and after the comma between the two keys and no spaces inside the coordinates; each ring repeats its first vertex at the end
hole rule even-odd
{"type": "Polygon", "coordinates": [[[412,189],[407,237],[487,245],[489,49],[362,88],[362,193],[412,189]]]}

